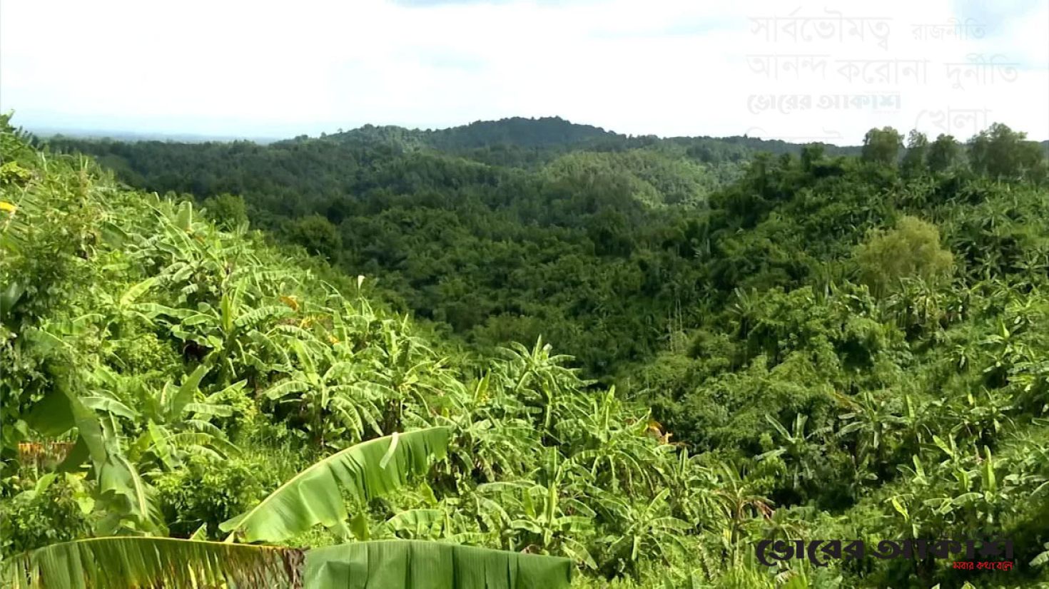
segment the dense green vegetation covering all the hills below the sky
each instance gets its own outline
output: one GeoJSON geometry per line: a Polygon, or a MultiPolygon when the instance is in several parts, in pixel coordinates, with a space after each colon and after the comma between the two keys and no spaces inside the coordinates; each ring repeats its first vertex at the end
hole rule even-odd
{"type": "Polygon", "coordinates": [[[200,570],[308,549],[308,576],[406,539],[561,557],[577,587],[1049,586],[1049,168],[1023,133],[2,127],[10,579],[146,575],[187,538],[200,570]],[[108,536],[148,548],[70,543],[108,536]],[[1013,570],[755,551],[997,538],[1013,570]]]}

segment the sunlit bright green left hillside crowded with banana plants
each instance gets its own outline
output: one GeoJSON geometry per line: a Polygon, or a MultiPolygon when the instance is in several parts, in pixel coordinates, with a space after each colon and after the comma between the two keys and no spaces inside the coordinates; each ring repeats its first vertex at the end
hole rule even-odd
{"type": "Polygon", "coordinates": [[[583,586],[662,563],[685,582],[710,544],[703,522],[724,517],[694,498],[718,475],[654,435],[644,408],[584,392],[549,345],[438,354],[368,301],[368,277],[121,189],[5,119],[0,132],[3,557],[94,536],[218,540],[319,458],[428,427],[451,441],[427,476],[286,542],[565,555],[583,586]]]}

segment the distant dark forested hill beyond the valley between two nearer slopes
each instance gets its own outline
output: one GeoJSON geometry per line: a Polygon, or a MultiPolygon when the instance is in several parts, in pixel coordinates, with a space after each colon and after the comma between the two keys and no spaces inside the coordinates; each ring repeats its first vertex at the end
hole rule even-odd
{"type": "Polygon", "coordinates": [[[49,143],[94,155],[131,186],[192,194],[227,223],[247,212],[480,347],[541,333],[595,376],[651,357],[699,312],[705,270],[693,262],[710,227],[692,213],[755,150],[802,148],[626,137],[559,118],[364,127],[269,146],[49,143]]]}

